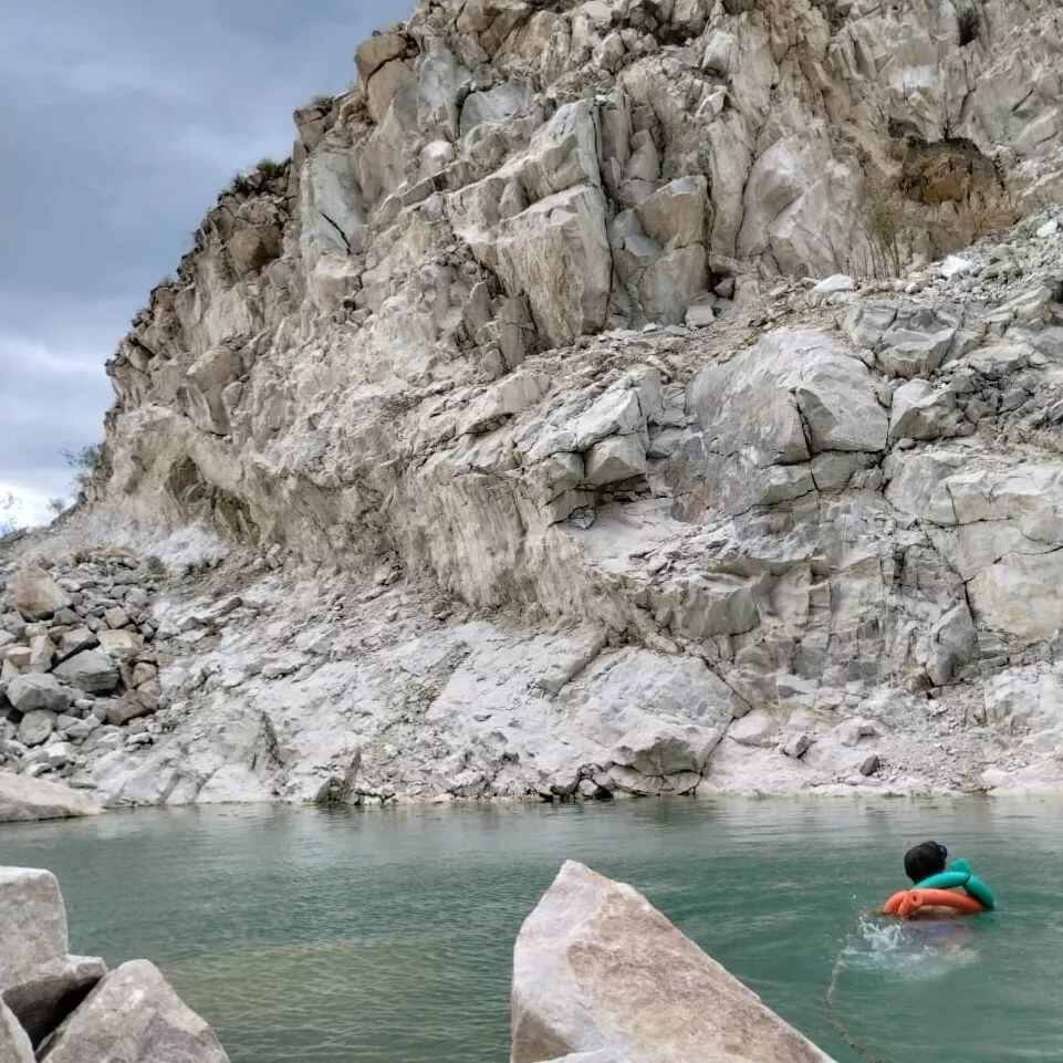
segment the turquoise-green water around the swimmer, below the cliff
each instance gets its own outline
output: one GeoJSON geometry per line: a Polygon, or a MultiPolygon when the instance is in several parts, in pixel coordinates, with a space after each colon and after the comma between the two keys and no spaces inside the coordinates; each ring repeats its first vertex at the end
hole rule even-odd
{"type": "Polygon", "coordinates": [[[146,956],[233,1063],[502,1063],[513,938],[566,857],[632,883],[842,1063],[1063,1059],[1060,806],[624,802],[150,811],[0,828],[60,877],[76,951],[146,956]],[[862,920],[930,836],[998,914],[862,920]]]}

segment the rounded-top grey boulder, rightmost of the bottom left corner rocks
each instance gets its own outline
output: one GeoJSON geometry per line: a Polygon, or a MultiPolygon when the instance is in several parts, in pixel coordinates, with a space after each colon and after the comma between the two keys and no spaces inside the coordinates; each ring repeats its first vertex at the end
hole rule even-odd
{"type": "Polygon", "coordinates": [[[49,1063],[228,1063],[207,1023],[147,960],[103,978],[50,1042],[49,1063]]]}

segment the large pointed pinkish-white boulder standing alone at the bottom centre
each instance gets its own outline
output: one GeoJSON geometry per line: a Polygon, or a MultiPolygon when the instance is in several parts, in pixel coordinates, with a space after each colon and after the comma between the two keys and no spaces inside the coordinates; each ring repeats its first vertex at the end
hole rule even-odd
{"type": "Polygon", "coordinates": [[[645,897],[571,861],[521,928],[512,1005],[512,1063],[830,1063],[645,897]]]}

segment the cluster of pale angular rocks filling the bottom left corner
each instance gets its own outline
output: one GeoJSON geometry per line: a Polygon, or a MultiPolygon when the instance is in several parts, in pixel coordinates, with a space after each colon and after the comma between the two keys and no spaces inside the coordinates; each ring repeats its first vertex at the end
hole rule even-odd
{"type": "Polygon", "coordinates": [[[228,1060],[152,963],[136,960],[108,973],[103,960],[67,955],[66,909],[50,872],[0,867],[0,910],[4,1063],[228,1060]]]}

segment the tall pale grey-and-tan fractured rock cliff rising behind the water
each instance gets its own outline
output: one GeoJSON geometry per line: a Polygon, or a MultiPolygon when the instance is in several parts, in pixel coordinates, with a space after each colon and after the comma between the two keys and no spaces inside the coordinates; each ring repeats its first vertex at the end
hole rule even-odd
{"type": "Polygon", "coordinates": [[[429,0],[367,41],[152,293],[98,499],[23,550],[67,590],[79,535],[227,555],[134,632],[146,738],[61,771],[111,803],[1056,788],[1061,30],[429,0]]]}

